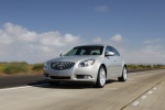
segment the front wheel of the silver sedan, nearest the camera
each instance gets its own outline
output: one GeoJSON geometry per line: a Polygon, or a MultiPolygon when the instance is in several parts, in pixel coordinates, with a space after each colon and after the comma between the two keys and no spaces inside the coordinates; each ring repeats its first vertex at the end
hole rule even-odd
{"type": "Polygon", "coordinates": [[[105,70],[103,66],[100,66],[100,68],[98,70],[96,87],[103,88],[105,84],[106,84],[106,70],[105,70]]]}

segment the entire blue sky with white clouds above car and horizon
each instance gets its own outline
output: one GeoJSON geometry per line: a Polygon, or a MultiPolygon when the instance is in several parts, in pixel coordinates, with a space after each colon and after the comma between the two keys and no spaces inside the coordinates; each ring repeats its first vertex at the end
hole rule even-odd
{"type": "Polygon", "coordinates": [[[0,62],[38,63],[73,45],[108,43],[129,63],[165,63],[164,6],[165,0],[0,0],[0,50],[6,51],[0,62]],[[28,40],[24,44],[23,37],[28,40]],[[48,45],[47,38],[52,43],[64,38],[65,44],[48,45]],[[18,53],[14,50],[20,45],[18,53]],[[24,55],[24,50],[32,48],[24,55]],[[51,51],[57,53],[50,55],[51,51]],[[38,56],[41,53],[47,54],[38,56]]]}

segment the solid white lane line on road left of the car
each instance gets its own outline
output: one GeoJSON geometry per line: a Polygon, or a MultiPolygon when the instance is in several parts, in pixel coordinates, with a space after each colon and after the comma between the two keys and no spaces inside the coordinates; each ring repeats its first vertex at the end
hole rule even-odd
{"type": "MultiPolygon", "coordinates": [[[[48,85],[48,84],[33,85],[33,86],[42,87],[42,86],[47,86],[47,85],[48,85]]],[[[30,88],[30,87],[33,87],[33,86],[21,86],[21,87],[4,88],[4,89],[0,89],[0,91],[16,90],[16,89],[25,89],[25,88],[30,88]]]]}

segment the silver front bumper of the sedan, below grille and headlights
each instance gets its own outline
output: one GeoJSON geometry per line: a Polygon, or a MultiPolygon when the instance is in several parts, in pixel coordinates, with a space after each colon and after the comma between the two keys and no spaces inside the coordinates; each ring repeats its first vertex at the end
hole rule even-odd
{"type": "Polygon", "coordinates": [[[94,64],[89,67],[78,67],[78,63],[70,69],[54,70],[50,66],[44,67],[44,79],[48,81],[87,81],[96,82],[100,65],[94,64]]]}

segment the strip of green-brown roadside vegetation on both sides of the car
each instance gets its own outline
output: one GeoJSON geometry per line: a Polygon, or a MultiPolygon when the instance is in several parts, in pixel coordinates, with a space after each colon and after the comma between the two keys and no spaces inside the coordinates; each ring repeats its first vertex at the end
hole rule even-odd
{"type": "MultiPolygon", "coordinates": [[[[128,70],[148,70],[165,69],[165,65],[142,65],[129,64],[128,70]]],[[[43,64],[28,64],[25,62],[0,63],[0,76],[2,75],[25,75],[25,74],[43,74],[43,64]]]]}

